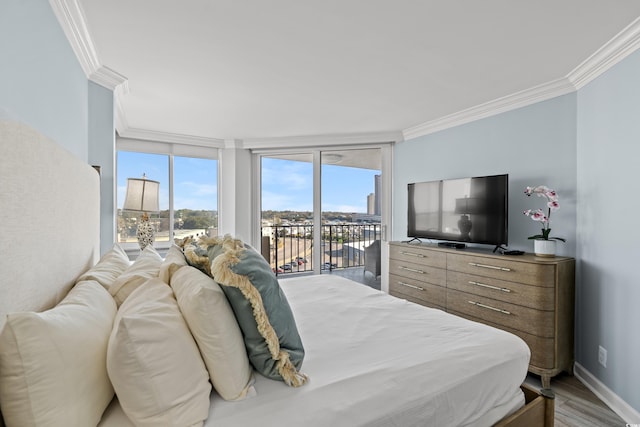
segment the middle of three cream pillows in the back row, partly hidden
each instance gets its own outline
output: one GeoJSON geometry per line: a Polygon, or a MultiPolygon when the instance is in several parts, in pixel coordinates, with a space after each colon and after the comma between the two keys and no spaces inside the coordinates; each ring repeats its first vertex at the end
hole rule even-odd
{"type": "Polygon", "coordinates": [[[118,307],[138,286],[147,280],[158,277],[162,257],[153,246],[147,246],[138,258],[129,266],[109,288],[118,307]]]}

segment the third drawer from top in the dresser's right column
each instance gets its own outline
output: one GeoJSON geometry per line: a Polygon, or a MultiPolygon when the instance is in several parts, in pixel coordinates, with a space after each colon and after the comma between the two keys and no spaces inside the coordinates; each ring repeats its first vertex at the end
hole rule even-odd
{"type": "Polygon", "coordinates": [[[447,310],[510,327],[539,337],[553,338],[553,311],[535,310],[453,289],[447,289],[447,310]]]}

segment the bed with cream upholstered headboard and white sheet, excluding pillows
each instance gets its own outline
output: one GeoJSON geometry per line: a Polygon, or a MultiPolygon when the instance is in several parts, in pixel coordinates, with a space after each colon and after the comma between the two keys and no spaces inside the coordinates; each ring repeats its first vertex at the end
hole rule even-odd
{"type": "MultiPolygon", "coordinates": [[[[0,140],[2,328],[9,313],[56,306],[100,254],[95,170],[18,122],[0,120],[0,140]]],[[[521,385],[529,350],[514,335],[333,275],[279,286],[308,381],[290,387],[255,373],[237,401],[213,388],[205,426],[553,425],[552,396],[521,385]]],[[[5,390],[5,413],[7,400],[5,390]]],[[[116,395],[98,425],[134,424],[116,395]]]]}

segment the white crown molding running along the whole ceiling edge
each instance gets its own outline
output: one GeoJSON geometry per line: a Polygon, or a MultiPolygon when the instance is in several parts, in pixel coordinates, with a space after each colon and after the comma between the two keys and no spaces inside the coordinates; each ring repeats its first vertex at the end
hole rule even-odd
{"type": "MultiPolygon", "coordinates": [[[[153,140],[154,138],[160,138],[155,140],[167,142],[189,141],[187,142],[189,144],[196,143],[198,145],[199,143],[207,146],[213,143],[216,146],[224,146],[224,140],[221,139],[130,129],[126,123],[122,105],[118,100],[119,96],[129,92],[127,78],[100,64],[86,24],[84,12],[78,0],[49,0],[49,3],[87,78],[107,89],[119,92],[116,95],[116,128],[121,135],[140,134],[143,136],[142,139],[153,140]]],[[[243,146],[245,148],[265,149],[402,142],[574,92],[593,81],[638,48],[640,48],[640,18],[625,27],[564,78],[488,101],[402,131],[357,135],[250,138],[243,141],[243,146]]]]}

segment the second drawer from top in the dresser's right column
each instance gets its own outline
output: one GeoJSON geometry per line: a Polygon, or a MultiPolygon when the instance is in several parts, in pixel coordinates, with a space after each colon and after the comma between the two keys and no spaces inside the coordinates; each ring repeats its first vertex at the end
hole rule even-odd
{"type": "Polygon", "coordinates": [[[555,308],[555,289],[509,282],[493,277],[447,272],[447,288],[499,301],[551,311],[555,308]]]}

